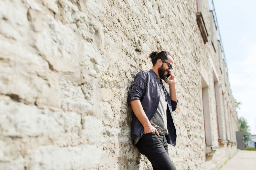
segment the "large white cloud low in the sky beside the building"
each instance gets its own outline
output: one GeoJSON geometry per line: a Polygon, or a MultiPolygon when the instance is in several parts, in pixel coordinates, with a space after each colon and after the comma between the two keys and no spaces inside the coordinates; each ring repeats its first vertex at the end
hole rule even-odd
{"type": "Polygon", "coordinates": [[[232,93],[242,103],[238,117],[247,119],[251,133],[256,134],[256,43],[251,44],[244,57],[229,65],[232,93]]]}

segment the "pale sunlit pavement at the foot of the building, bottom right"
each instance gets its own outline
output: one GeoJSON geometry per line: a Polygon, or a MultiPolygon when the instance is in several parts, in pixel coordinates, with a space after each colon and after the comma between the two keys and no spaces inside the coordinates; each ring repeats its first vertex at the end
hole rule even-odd
{"type": "Polygon", "coordinates": [[[256,170],[256,151],[238,150],[221,170],[256,170]]]}

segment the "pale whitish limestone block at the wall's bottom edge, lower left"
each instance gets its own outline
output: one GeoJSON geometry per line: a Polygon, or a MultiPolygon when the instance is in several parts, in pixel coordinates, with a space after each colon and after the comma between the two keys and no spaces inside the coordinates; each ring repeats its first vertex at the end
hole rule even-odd
{"type": "Polygon", "coordinates": [[[100,162],[102,148],[91,145],[76,147],[41,146],[29,155],[29,169],[88,169],[100,162]]]}

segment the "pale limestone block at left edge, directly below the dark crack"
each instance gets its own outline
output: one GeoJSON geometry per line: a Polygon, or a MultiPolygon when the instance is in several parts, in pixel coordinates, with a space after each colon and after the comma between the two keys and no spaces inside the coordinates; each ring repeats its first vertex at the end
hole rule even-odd
{"type": "Polygon", "coordinates": [[[38,136],[43,133],[64,132],[54,117],[36,106],[25,105],[10,100],[1,101],[1,119],[3,136],[24,137],[38,136]]]}

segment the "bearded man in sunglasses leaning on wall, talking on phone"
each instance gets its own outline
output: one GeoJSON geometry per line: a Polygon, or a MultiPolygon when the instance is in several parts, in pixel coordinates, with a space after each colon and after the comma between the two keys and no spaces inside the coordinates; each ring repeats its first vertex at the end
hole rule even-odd
{"type": "Polygon", "coordinates": [[[134,113],[132,142],[153,169],[176,169],[167,145],[175,146],[177,137],[172,114],[179,103],[172,73],[174,58],[166,51],[152,52],[149,57],[153,68],[136,74],[127,99],[134,113]],[[168,83],[170,95],[162,79],[168,83]]]}

